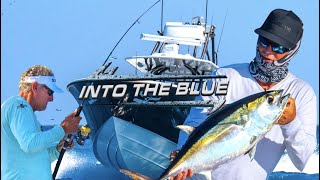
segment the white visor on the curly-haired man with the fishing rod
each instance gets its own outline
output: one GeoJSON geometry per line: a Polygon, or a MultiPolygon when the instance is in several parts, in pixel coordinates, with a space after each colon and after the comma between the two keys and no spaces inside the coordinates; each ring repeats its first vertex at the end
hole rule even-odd
{"type": "Polygon", "coordinates": [[[24,81],[26,83],[34,83],[37,82],[39,84],[45,84],[50,88],[52,91],[57,92],[57,93],[62,93],[63,90],[60,89],[56,85],[56,79],[54,76],[26,76],[24,77],[24,81]]]}

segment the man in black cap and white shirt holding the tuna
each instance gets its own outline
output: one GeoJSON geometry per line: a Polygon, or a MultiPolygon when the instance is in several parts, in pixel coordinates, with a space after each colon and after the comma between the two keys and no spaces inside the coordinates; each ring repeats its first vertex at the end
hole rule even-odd
{"type": "MultiPolygon", "coordinates": [[[[211,99],[225,98],[229,104],[251,94],[278,89],[291,97],[277,124],[257,144],[253,160],[248,154],[240,156],[211,171],[209,178],[212,179],[266,179],[285,150],[295,167],[302,171],[316,147],[315,93],[308,83],[288,71],[289,62],[301,44],[302,21],[292,11],[275,9],[255,32],[259,35],[256,57],[251,63],[233,64],[215,71],[215,75],[228,77],[229,86],[225,97],[211,99]]],[[[197,126],[207,115],[207,109],[192,108],[184,124],[197,126]]],[[[178,148],[186,139],[187,134],[181,131],[178,148]]],[[[179,173],[175,179],[191,175],[189,170],[179,173]]],[[[204,177],[197,174],[193,178],[204,177]]]]}

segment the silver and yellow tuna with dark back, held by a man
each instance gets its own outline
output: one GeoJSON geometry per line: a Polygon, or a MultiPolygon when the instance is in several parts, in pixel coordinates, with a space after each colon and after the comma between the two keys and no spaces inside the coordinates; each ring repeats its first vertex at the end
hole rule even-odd
{"type": "MultiPolygon", "coordinates": [[[[281,117],[289,94],[283,90],[250,95],[212,113],[190,132],[189,138],[176,158],[158,179],[176,176],[192,169],[193,173],[214,170],[238,156],[249,153],[254,157],[257,143],[281,117]]],[[[120,170],[132,179],[150,179],[128,170],[120,170]]]]}

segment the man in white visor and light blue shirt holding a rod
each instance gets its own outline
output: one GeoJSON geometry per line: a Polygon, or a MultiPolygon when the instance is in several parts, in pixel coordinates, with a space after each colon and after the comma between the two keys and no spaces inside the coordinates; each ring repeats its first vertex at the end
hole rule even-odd
{"type": "Polygon", "coordinates": [[[1,179],[51,180],[51,162],[59,157],[65,134],[76,132],[82,118],[73,112],[42,131],[35,111],[45,110],[54,92],[63,91],[52,70],[42,65],[27,69],[19,84],[20,95],[1,105],[1,179]]]}

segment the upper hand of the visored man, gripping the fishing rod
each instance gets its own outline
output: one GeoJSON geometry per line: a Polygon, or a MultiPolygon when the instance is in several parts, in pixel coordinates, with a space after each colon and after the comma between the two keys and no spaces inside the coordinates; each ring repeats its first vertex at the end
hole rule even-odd
{"type": "Polygon", "coordinates": [[[61,126],[66,134],[72,134],[78,131],[78,126],[82,118],[80,116],[74,117],[75,115],[76,111],[68,115],[61,123],[61,126]]]}

